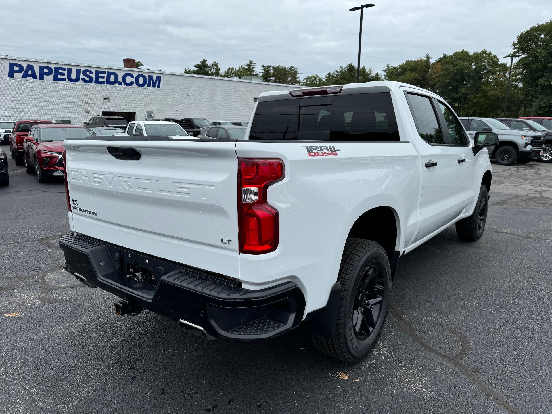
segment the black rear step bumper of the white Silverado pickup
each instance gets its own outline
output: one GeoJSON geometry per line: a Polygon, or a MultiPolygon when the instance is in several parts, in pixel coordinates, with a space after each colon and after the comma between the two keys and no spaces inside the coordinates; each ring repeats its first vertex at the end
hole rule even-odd
{"type": "Polygon", "coordinates": [[[182,328],[208,338],[273,338],[297,327],[305,310],[305,298],[293,282],[245,289],[220,275],[73,233],[60,238],[60,247],[67,272],[80,282],[178,321],[182,328]],[[139,270],[148,283],[130,276],[139,270]]]}

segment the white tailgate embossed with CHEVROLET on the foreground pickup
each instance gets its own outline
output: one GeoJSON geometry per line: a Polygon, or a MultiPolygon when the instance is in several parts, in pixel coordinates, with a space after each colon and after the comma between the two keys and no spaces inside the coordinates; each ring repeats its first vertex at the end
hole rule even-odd
{"type": "Polygon", "coordinates": [[[71,230],[238,278],[235,142],[66,140],[63,146],[71,230]]]}

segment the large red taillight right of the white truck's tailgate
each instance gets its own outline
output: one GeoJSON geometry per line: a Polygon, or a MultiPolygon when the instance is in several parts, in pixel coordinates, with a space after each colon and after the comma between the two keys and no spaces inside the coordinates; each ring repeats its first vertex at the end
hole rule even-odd
{"type": "Polygon", "coordinates": [[[268,204],[269,185],[284,178],[277,158],[238,160],[238,228],[240,253],[269,253],[278,247],[278,210],[268,204]]]}

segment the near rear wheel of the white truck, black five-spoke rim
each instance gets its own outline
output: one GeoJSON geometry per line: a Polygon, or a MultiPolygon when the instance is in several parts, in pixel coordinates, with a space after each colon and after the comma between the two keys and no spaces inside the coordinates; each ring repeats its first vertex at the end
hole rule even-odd
{"type": "Polygon", "coordinates": [[[348,238],[338,282],[341,299],[336,331],[327,341],[312,336],[323,353],[344,362],[359,362],[374,348],[391,302],[391,268],[379,243],[348,238]]]}

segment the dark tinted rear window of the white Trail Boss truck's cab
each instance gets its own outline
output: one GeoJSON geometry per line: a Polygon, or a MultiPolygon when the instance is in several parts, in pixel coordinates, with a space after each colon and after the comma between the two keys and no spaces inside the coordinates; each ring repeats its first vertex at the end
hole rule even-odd
{"type": "Polygon", "coordinates": [[[389,92],[259,102],[250,140],[399,141],[389,92]]]}

